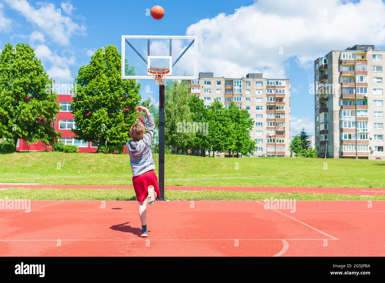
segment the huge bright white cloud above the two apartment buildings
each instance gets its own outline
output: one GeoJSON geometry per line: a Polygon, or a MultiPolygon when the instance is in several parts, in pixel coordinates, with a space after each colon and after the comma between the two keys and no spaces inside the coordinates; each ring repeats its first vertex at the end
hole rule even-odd
{"type": "Polygon", "coordinates": [[[288,58],[306,68],[330,50],[384,44],[384,14],[381,0],[258,0],[234,14],[202,19],[186,34],[198,36],[201,72],[286,78],[288,58]]]}

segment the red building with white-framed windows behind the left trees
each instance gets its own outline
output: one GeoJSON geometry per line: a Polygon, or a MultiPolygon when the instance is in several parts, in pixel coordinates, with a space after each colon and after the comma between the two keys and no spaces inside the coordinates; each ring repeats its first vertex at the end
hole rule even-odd
{"type": "MultiPolygon", "coordinates": [[[[71,113],[70,102],[72,102],[71,95],[58,95],[57,96],[59,115],[56,117],[56,122],[53,127],[58,131],[62,132],[59,141],[62,141],[65,145],[76,145],[79,148],[79,152],[96,152],[97,145],[92,142],[82,141],[71,132],[71,129],[75,127],[74,116],[71,113]]],[[[139,114],[139,121],[145,125],[145,120],[142,115],[139,114]]],[[[125,146],[126,147],[126,146],[125,146]]],[[[32,143],[27,145],[22,139],[17,141],[17,151],[44,151],[44,144],[42,142],[32,143]]],[[[51,150],[47,147],[47,150],[51,150]]],[[[127,148],[124,149],[124,153],[127,153],[127,148]]]]}

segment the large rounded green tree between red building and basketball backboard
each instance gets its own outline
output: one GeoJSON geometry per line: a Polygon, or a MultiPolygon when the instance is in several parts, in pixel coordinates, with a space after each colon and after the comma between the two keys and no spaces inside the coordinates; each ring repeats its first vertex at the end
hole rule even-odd
{"type": "Polygon", "coordinates": [[[121,79],[121,54],[115,46],[98,49],[75,78],[76,95],[71,103],[79,138],[100,146],[123,145],[136,122],[140,84],[121,79]]]}

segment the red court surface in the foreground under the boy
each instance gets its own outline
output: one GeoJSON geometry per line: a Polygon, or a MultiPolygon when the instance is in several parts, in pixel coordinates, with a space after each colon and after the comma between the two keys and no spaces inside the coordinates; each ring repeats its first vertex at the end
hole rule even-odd
{"type": "Polygon", "coordinates": [[[385,201],[31,201],[0,210],[0,256],[385,256],[385,201]]]}

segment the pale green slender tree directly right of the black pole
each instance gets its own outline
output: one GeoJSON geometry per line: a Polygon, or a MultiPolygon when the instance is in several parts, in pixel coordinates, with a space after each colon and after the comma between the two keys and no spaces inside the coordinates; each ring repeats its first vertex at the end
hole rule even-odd
{"type": "Polygon", "coordinates": [[[168,82],[165,105],[165,144],[186,150],[195,133],[192,132],[192,115],[189,108],[189,88],[185,82],[168,82]]]}

